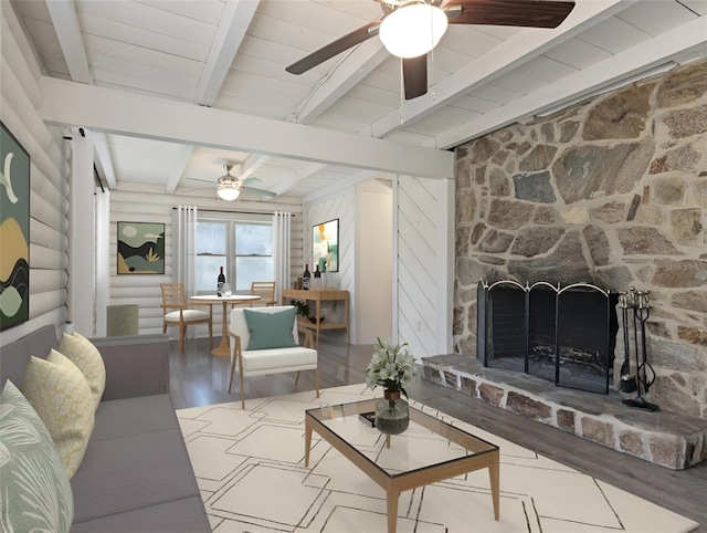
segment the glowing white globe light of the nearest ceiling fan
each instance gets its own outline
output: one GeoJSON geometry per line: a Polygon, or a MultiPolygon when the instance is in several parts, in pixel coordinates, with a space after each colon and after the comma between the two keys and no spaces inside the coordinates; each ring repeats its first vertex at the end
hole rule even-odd
{"type": "Polygon", "coordinates": [[[437,45],[446,31],[446,14],[436,6],[415,1],[398,8],[380,24],[380,40],[398,58],[419,58],[437,45]]]}

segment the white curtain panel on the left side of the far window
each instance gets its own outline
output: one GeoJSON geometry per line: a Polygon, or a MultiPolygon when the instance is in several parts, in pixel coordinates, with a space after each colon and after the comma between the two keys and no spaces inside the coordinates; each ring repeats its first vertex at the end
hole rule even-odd
{"type": "Polygon", "coordinates": [[[194,206],[172,211],[172,281],[184,284],[187,296],[197,293],[197,215],[194,206]]]}

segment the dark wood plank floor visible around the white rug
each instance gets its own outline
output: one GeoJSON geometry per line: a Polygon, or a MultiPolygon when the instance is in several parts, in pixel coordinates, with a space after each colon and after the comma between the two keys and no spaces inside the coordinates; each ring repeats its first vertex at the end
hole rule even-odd
{"type": "MultiPolygon", "coordinates": [[[[318,352],[319,388],[363,382],[371,346],[348,347],[338,337],[323,335],[318,352]]],[[[239,399],[238,375],[233,393],[226,393],[229,358],[210,355],[205,339],[188,341],[183,354],[172,342],[170,353],[171,397],[177,409],[239,399]]],[[[309,372],[302,373],[297,387],[294,374],[257,376],[246,379],[245,397],[260,398],[313,388],[309,372]]],[[[701,524],[697,530],[699,533],[707,533],[707,462],[689,470],[674,471],[488,406],[424,379],[408,387],[408,391],[418,401],[688,516],[701,524]]]]}

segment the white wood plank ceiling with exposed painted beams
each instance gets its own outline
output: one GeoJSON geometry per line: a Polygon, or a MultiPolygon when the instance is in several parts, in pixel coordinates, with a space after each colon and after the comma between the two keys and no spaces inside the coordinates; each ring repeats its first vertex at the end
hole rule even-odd
{"type": "MultiPolygon", "coordinates": [[[[357,137],[373,137],[410,154],[449,149],[707,55],[707,0],[577,0],[555,30],[451,25],[430,54],[430,91],[403,103],[400,60],[378,38],[302,75],[285,72],[380,18],[372,0],[11,4],[46,76],[230,112],[234,128],[239,117],[261,117],[274,121],[263,123],[273,136],[277,124],[294,123],[348,134],[351,149],[357,137]]],[[[243,150],[105,130],[96,130],[96,150],[112,188],[213,196],[222,165],[233,161],[234,174],[257,177],[258,188],[308,201],[380,175],[371,165],[282,157],[266,142],[243,150]]]]}

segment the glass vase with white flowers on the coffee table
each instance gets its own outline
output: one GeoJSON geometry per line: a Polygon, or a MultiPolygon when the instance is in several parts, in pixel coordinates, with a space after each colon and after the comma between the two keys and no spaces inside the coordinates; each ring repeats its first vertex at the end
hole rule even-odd
{"type": "Polygon", "coordinates": [[[418,377],[415,359],[408,349],[408,343],[392,345],[379,337],[366,375],[368,388],[383,387],[383,398],[376,403],[376,427],[382,433],[402,433],[410,424],[410,414],[408,403],[400,395],[407,398],[404,386],[418,377]]]}

